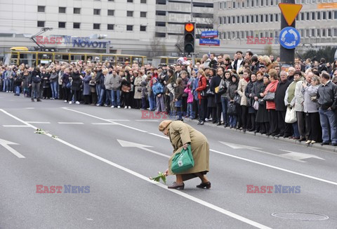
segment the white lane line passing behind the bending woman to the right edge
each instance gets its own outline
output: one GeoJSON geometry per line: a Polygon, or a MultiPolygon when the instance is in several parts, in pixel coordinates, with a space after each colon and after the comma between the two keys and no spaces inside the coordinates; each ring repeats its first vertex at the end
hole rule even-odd
{"type": "MultiPolygon", "coordinates": [[[[73,111],[73,112],[78,112],[77,110],[67,109],[66,107],[63,107],[63,109],[70,110],[70,111],[73,111]]],[[[84,112],[79,112],[79,113],[85,114],[85,115],[90,116],[90,117],[95,117],[95,116],[93,116],[93,115],[91,115],[91,114],[86,114],[86,113],[84,113],[84,112]]],[[[100,117],[95,117],[95,118],[96,118],[96,119],[102,119],[102,118],[100,118],[100,117]]],[[[105,119],[103,119],[103,120],[105,120],[105,119]]],[[[121,125],[121,124],[120,124],[120,125],[121,125]]],[[[133,128],[133,127],[131,127],[131,126],[126,126],[126,125],[121,125],[121,126],[125,126],[125,127],[128,127],[128,128],[131,128],[131,129],[139,130],[139,129],[133,128]]],[[[156,135],[156,134],[154,134],[154,133],[147,132],[147,131],[143,131],[143,130],[139,130],[139,131],[142,131],[142,132],[145,132],[145,133],[149,133],[149,134],[152,134],[152,135],[154,135],[154,136],[159,136],[159,135],[156,135]]],[[[162,137],[162,136],[159,136],[159,137],[162,137]]],[[[322,178],[317,178],[317,177],[315,177],[315,176],[310,176],[310,175],[306,175],[306,174],[300,174],[300,173],[298,173],[298,172],[296,172],[296,171],[291,171],[291,170],[289,170],[289,169],[282,169],[282,168],[277,167],[277,166],[272,166],[272,165],[270,165],[270,164],[264,164],[264,163],[261,163],[261,162],[256,162],[256,161],[253,161],[253,160],[251,160],[251,159],[246,159],[246,158],[244,158],[244,157],[237,157],[237,156],[234,156],[234,155],[229,155],[229,154],[227,154],[227,153],[225,153],[225,152],[219,152],[219,151],[217,151],[217,150],[211,150],[211,149],[210,149],[210,151],[216,152],[216,153],[218,153],[218,154],[220,154],[220,155],[225,155],[225,156],[228,156],[228,157],[234,157],[234,158],[236,158],[236,159],[242,159],[242,160],[244,160],[244,161],[246,161],[246,162],[252,162],[252,163],[254,163],[254,164],[260,164],[260,165],[262,165],[262,166],[267,166],[267,167],[272,168],[272,169],[277,169],[277,170],[280,170],[280,171],[285,171],[285,172],[290,173],[290,174],[296,174],[296,175],[298,175],[298,176],[304,176],[304,177],[306,177],[306,178],[311,178],[311,179],[314,179],[314,180],[316,180],[316,181],[322,181],[322,182],[324,182],[324,183],[329,183],[329,184],[332,184],[332,185],[337,185],[337,182],[334,182],[334,181],[328,181],[328,180],[325,180],[325,179],[322,179],[322,178]]]]}

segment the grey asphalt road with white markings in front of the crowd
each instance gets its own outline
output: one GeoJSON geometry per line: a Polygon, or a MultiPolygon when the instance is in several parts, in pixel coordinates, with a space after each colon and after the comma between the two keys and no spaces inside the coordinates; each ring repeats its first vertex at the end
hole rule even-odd
{"type": "Polygon", "coordinates": [[[212,187],[168,190],[148,179],[173,150],[161,120],[0,93],[0,228],[337,228],[336,153],[185,121],[209,139],[212,187]]]}

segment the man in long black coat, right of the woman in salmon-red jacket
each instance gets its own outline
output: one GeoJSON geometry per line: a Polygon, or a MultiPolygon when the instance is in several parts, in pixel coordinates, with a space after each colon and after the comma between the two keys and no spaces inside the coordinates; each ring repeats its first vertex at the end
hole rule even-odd
{"type": "Polygon", "coordinates": [[[286,105],[284,105],[284,96],[286,95],[286,89],[288,89],[291,82],[287,79],[287,74],[285,71],[280,72],[280,81],[277,84],[277,89],[275,92],[275,105],[277,111],[277,123],[279,126],[279,134],[277,137],[288,138],[291,136],[291,124],[284,122],[286,117],[286,105]]]}

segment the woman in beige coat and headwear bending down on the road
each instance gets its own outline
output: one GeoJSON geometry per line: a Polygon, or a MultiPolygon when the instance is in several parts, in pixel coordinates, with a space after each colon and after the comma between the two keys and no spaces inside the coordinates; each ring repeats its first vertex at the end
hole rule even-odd
{"type": "Polygon", "coordinates": [[[165,175],[176,175],[176,182],[168,188],[183,190],[185,186],[183,181],[196,177],[201,179],[201,183],[197,185],[197,188],[211,188],[211,183],[205,176],[209,171],[209,143],[207,138],[196,129],[193,129],[192,126],[181,121],[165,120],[159,124],[159,131],[169,136],[174,149],[173,155],[169,160],[169,169],[165,171],[165,175]],[[194,166],[183,173],[173,174],[171,171],[172,159],[183,148],[187,149],[188,144],[191,145],[194,166]]]}

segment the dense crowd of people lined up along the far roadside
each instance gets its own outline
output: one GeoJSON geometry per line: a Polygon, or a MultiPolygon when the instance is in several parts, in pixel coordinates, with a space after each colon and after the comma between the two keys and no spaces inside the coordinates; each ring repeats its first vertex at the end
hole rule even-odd
{"type": "Polygon", "coordinates": [[[112,65],[79,61],[31,67],[0,63],[0,89],[32,102],[65,103],[165,112],[179,120],[199,119],[218,126],[337,145],[337,60],[279,57],[247,51],[204,55],[192,65],[112,65]]]}

